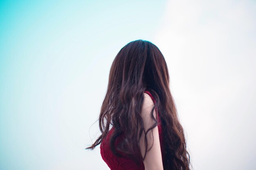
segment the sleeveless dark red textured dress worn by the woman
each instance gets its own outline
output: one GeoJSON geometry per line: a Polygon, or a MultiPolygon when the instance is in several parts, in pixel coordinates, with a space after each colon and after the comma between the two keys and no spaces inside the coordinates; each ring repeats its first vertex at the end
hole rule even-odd
{"type": "MultiPolygon", "coordinates": [[[[145,91],[144,93],[148,94],[153,102],[155,103],[155,99],[153,98],[152,94],[150,94],[150,92],[145,91]]],[[[156,109],[157,111],[157,109],[156,109]]],[[[158,115],[158,114],[157,114],[158,115]]],[[[160,121],[160,118],[157,116],[157,121],[160,121]]],[[[162,160],[164,163],[164,150],[163,150],[163,136],[162,136],[162,124],[159,123],[158,125],[158,132],[159,132],[159,140],[160,140],[160,145],[161,145],[161,153],[162,153],[162,160]]],[[[107,163],[108,167],[111,170],[145,170],[144,168],[144,163],[141,160],[140,165],[138,166],[134,161],[132,161],[131,159],[125,158],[125,157],[117,157],[115,156],[112,151],[110,150],[110,143],[109,143],[109,138],[110,138],[110,134],[112,133],[112,130],[114,129],[114,127],[112,127],[112,129],[110,129],[108,135],[106,136],[106,138],[102,139],[101,141],[101,145],[100,145],[100,151],[101,151],[101,157],[102,159],[107,163]]],[[[117,140],[115,141],[115,144],[117,144],[117,142],[119,142],[121,139],[121,137],[117,137],[117,140]]]]}

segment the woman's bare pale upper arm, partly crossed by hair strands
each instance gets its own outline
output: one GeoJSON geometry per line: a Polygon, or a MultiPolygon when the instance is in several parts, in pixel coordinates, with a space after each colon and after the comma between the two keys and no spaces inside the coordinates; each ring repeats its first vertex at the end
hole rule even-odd
{"type": "MultiPolygon", "coordinates": [[[[150,112],[153,109],[153,106],[154,106],[154,102],[151,99],[151,97],[148,94],[144,93],[144,102],[142,106],[141,117],[144,122],[145,132],[155,123],[153,118],[150,117],[150,112]]],[[[155,109],[154,109],[153,115],[156,118],[155,109]]],[[[149,131],[147,134],[148,149],[152,146],[152,144],[153,146],[146,153],[146,157],[143,162],[144,167],[145,167],[145,170],[164,170],[157,126],[153,128],[153,136],[152,136],[152,132],[149,131]],[[154,136],[154,139],[153,139],[153,136],[154,136]]],[[[144,138],[145,138],[145,133],[143,132],[139,141],[142,157],[144,157],[145,151],[146,151],[144,138]]]]}

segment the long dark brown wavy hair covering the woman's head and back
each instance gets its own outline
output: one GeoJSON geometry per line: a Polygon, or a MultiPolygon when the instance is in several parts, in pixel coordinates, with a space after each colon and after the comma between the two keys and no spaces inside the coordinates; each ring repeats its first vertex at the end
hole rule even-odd
{"type": "Polygon", "coordinates": [[[112,152],[120,157],[117,150],[134,159],[144,160],[148,151],[145,135],[146,153],[140,153],[139,139],[144,130],[141,109],[144,101],[144,91],[149,91],[155,98],[151,117],[155,124],[145,133],[157,126],[153,117],[157,109],[164,134],[164,170],[190,170],[190,155],[186,149],[184,130],[180,124],[175,102],[169,88],[169,73],[162,52],[150,41],[136,40],[126,44],[115,57],[109,74],[106,96],[99,114],[99,129],[101,135],[88,148],[94,149],[101,144],[111,127],[115,131],[110,137],[112,152]],[[115,140],[125,133],[124,140],[115,148],[115,140]],[[116,150],[117,149],[117,150],[116,150]]]}

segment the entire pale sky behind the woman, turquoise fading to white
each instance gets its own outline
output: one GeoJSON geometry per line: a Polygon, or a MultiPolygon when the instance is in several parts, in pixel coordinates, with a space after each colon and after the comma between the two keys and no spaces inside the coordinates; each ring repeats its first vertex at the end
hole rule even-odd
{"type": "Polygon", "coordinates": [[[253,0],[1,1],[0,169],[108,170],[84,148],[136,39],[164,54],[194,170],[255,169],[253,0]]]}

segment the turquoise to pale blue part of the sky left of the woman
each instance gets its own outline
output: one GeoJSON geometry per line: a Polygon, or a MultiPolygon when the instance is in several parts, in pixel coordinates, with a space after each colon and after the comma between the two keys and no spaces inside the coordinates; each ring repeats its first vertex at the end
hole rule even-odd
{"type": "Polygon", "coordinates": [[[99,106],[91,116],[86,103],[103,96],[88,91],[106,86],[119,48],[152,39],[165,3],[0,2],[0,169],[90,167],[83,149],[99,106]]]}

